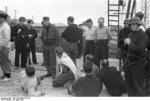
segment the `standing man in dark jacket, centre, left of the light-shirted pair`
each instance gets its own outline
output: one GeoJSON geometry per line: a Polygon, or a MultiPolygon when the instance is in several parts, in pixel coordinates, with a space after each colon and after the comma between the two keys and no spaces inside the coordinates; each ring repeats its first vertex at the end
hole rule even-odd
{"type": "Polygon", "coordinates": [[[81,29],[74,24],[74,17],[69,16],[67,18],[68,27],[62,33],[61,37],[64,39],[66,44],[66,52],[76,64],[78,55],[78,41],[82,40],[81,29]]]}

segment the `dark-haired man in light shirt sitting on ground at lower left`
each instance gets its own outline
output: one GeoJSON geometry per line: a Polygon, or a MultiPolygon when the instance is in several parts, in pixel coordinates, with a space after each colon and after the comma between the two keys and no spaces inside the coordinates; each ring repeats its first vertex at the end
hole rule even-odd
{"type": "Polygon", "coordinates": [[[21,72],[22,90],[26,92],[28,96],[44,95],[44,92],[37,90],[42,79],[42,77],[35,76],[34,67],[27,67],[25,71],[21,72]]]}

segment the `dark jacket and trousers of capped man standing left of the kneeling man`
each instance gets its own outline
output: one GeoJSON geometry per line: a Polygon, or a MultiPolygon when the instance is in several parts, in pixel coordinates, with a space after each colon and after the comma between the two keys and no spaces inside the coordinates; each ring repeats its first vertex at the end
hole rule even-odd
{"type": "Polygon", "coordinates": [[[43,55],[45,58],[45,65],[48,75],[53,77],[56,75],[56,55],[55,48],[59,45],[60,35],[54,25],[42,28],[42,41],[43,41],[43,55]]]}

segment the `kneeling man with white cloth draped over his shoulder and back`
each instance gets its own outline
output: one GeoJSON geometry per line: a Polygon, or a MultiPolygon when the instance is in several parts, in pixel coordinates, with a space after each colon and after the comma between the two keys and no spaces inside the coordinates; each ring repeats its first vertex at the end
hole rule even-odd
{"type": "Polygon", "coordinates": [[[72,59],[63,51],[63,48],[55,49],[57,57],[56,78],[53,87],[63,87],[66,83],[77,79],[76,66],[72,59]]]}

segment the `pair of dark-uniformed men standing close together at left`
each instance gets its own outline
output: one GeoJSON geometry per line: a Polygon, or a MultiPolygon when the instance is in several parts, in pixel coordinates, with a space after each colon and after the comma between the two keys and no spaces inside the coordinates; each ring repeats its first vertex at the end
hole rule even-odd
{"type": "MultiPolygon", "coordinates": [[[[21,67],[25,68],[27,62],[30,62],[30,52],[32,53],[32,61],[37,64],[36,53],[35,53],[35,38],[37,37],[37,32],[32,28],[33,21],[27,20],[26,18],[20,17],[19,24],[15,25],[11,29],[11,38],[15,42],[15,66],[18,68],[20,66],[20,56],[21,56],[21,67]]],[[[29,63],[30,64],[30,63],[29,63]]]]}

